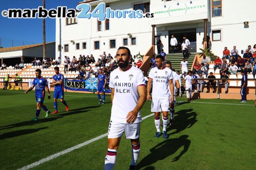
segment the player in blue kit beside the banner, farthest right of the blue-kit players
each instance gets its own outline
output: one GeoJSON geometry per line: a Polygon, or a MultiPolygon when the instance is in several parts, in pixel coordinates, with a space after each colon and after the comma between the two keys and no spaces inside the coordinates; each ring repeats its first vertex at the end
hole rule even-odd
{"type": "Polygon", "coordinates": [[[104,104],[105,103],[105,91],[106,91],[106,75],[102,73],[102,69],[98,69],[98,83],[97,83],[97,96],[100,102],[98,104],[104,104]],[[101,95],[102,93],[102,99],[101,95]]]}

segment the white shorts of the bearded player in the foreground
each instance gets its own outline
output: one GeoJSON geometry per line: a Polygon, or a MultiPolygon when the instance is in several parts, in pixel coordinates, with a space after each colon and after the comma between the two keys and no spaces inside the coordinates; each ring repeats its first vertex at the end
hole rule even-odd
{"type": "Polygon", "coordinates": [[[141,123],[135,124],[121,124],[110,121],[108,138],[119,138],[122,137],[125,132],[126,139],[137,139],[139,138],[141,123]]]}

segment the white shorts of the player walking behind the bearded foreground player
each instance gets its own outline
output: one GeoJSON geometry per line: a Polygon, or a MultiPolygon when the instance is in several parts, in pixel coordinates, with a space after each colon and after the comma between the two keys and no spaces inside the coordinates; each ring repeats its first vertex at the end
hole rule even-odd
{"type": "Polygon", "coordinates": [[[152,98],[151,112],[168,112],[170,108],[170,96],[165,98],[152,98]]]}

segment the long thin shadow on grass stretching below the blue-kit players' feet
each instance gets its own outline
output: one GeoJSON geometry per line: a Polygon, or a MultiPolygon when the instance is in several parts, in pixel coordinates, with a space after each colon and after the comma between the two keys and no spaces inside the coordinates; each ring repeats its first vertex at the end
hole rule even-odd
{"type": "MultiPolygon", "coordinates": [[[[30,125],[35,125],[35,124],[41,124],[41,123],[44,123],[44,122],[50,122],[50,121],[55,121],[57,120],[58,118],[63,118],[64,116],[71,116],[72,114],[79,114],[79,113],[85,113],[85,112],[88,112],[90,110],[88,109],[92,109],[92,108],[98,108],[98,107],[101,107],[101,105],[97,105],[97,106],[90,106],[90,107],[84,107],[84,108],[78,108],[78,109],[72,109],[70,110],[69,112],[63,112],[61,114],[55,114],[55,115],[52,115],[52,114],[49,114],[49,117],[47,118],[40,118],[39,117],[39,120],[38,121],[24,121],[24,122],[19,122],[17,124],[11,124],[11,125],[6,125],[6,126],[1,126],[0,127],[0,130],[3,130],[3,129],[11,129],[11,128],[18,128],[20,126],[30,126],[30,125]]],[[[40,114],[41,117],[42,117],[42,113],[40,114]]]]}

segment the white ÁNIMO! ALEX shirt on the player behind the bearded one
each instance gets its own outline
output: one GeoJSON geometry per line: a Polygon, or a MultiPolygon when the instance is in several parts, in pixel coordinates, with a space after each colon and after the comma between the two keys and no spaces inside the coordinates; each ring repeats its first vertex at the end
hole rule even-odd
{"type": "Polygon", "coordinates": [[[152,98],[164,98],[170,96],[169,80],[174,79],[172,70],[164,68],[163,70],[154,67],[150,70],[148,78],[152,79],[153,89],[152,98]]]}

